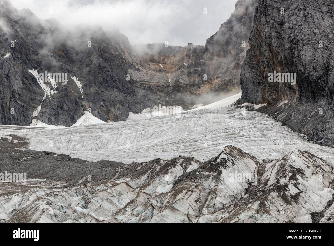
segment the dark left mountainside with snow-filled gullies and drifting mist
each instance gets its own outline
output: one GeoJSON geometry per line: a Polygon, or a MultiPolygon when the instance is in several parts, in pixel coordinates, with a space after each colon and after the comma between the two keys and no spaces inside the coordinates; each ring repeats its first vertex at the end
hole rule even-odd
{"type": "Polygon", "coordinates": [[[164,101],[165,95],[158,96],[154,90],[142,101],[143,88],[127,80],[130,64],[121,34],[114,36],[115,41],[100,27],[70,32],[52,20],[40,21],[29,10],[17,11],[7,2],[2,3],[0,14],[1,53],[10,53],[0,60],[1,124],[29,125],[40,104],[36,120],[70,126],[88,109],[104,121],[118,121],[126,119],[130,110],[164,101]],[[53,88],[45,82],[54,94],[43,99],[41,86],[28,70],[66,73],[67,84],[57,82],[53,88]],[[71,76],[82,83],[82,96],[71,76]]]}

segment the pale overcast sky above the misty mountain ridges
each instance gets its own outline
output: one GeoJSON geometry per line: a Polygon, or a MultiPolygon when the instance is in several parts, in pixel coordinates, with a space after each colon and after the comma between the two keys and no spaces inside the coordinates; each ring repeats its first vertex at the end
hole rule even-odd
{"type": "Polygon", "coordinates": [[[204,45],[234,11],[237,0],[11,0],[39,18],[65,24],[118,27],[131,44],[204,45]],[[207,14],[204,14],[207,8],[207,14]]]}

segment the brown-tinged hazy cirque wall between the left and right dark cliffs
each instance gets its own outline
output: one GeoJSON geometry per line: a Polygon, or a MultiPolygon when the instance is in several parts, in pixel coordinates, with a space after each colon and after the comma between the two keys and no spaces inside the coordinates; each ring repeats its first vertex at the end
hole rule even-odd
{"type": "MultiPolygon", "coordinates": [[[[218,101],[222,92],[225,96],[234,95],[240,92],[241,64],[249,48],[249,33],[254,25],[257,4],[257,0],[237,1],[234,13],[207,39],[205,46],[147,44],[136,45],[134,52],[150,66],[149,71],[155,71],[154,76],[167,79],[172,92],[188,94],[189,98],[195,99],[202,96],[204,104],[211,103],[209,98],[212,96],[218,101]],[[205,95],[209,95],[208,99],[203,97],[205,95]]],[[[134,76],[139,77],[138,80],[150,77],[145,69],[134,76]]]]}

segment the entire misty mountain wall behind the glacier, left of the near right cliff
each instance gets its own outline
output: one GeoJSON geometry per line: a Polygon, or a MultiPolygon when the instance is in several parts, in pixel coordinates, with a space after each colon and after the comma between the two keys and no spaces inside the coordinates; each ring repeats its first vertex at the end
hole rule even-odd
{"type": "Polygon", "coordinates": [[[239,0],[235,13],[205,47],[150,44],[137,54],[118,31],[106,33],[97,26],[69,30],[3,1],[0,124],[30,125],[36,119],[70,126],[86,110],[103,121],[120,121],[130,111],[139,113],[159,104],[188,108],[202,95],[239,91],[240,64],[247,48],[241,44],[251,31],[255,5],[255,0],[239,0]],[[57,82],[53,87],[45,81],[51,92],[46,95],[28,70],[66,73],[67,84],[57,82]]]}

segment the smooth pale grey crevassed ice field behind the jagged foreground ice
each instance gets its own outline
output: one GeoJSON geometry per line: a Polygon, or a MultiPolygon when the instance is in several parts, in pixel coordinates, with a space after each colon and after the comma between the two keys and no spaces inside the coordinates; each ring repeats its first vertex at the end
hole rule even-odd
{"type": "Polygon", "coordinates": [[[85,112],[73,125],[76,127],[32,130],[2,126],[0,134],[22,136],[28,139],[32,150],[64,153],[89,161],[130,163],[178,155],[203,161],[233,145],[259,159],[277,159],[294,150],[307,150],[332,162],[333,148],[307,141],[305,135],[291,131],[266,114],[216,105],[112,123],[85,112]],[[53,147],[49,147],[50,141],[53,147]]]}

